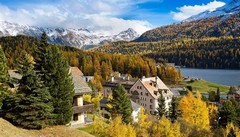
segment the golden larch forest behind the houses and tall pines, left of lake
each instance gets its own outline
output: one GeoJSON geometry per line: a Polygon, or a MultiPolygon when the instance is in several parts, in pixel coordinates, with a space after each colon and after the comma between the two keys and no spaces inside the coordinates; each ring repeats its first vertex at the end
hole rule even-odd
{"type": "MultiPolygon", "coordinates": [[[[38,39],[17,36],[0,38],[0,45],[8,59],[8,66],[15,68],[15,62],[22,50],[33,57],[38,39]]],[[[59,46],[71,66],[79,67],[85,75],[94,75],[97,81],[109,79],[112,71],[131,74],[133,77],[156,76],[166,80],[179,80],[179,72],[172,67],[155,67],[154,60],[140,55],[109,54],[83,51],[73,47],[59,46]],[[160,74],[160,72],[162,74],[160,74]]]]}

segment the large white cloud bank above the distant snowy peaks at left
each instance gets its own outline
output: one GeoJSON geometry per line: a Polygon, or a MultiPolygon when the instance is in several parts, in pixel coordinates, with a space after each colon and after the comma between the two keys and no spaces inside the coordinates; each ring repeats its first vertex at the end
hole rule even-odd
{"type": "MultiPolygon", "coordinates": [[[[149,0],[140,0],[145,2],[149,0]]],[[[42,27],[88,28],[104,34],[117,34],[133,28],[139,34],[151,24],[142,20],[124,20],[120,16],[135,0],[59,0],[57,4],[19,4],[11,9],[0,4],[0,20],[42,27]]],[[[136,4],[136,2],[135,2],[136,4]]]]}

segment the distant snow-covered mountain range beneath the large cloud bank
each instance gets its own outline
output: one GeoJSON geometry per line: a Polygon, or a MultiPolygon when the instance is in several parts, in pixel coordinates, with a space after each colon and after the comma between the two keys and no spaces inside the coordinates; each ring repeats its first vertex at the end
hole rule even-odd
{"type": "Polygon", "coordinates": [[[0,21],[0,37],[27,35],[39,38],[43,32],[46,32],[48,40],[51,43],[74,46],[81,49],[88,49],[106,42],[131,41],[139,36],[131,28],[114,36],[106,36],[85,28],[43,28],[0,21]]]}

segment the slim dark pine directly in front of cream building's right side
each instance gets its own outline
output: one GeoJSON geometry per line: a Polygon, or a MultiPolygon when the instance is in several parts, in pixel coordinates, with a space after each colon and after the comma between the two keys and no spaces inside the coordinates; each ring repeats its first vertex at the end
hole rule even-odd
{"type": "Polygon", "coordinates": [[[156,114],[159,119],[162,118],[163,115],[166,115],[166,106],[165,106],[165,99],[161,93],[160,97],[158,98],[158,107],[156,114]]]}

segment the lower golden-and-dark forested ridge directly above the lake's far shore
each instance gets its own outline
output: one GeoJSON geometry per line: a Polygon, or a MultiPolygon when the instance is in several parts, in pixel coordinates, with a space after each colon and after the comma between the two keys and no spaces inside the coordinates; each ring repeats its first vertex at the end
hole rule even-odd
{"type": "Polygon", "coordinates": [[[240,69],[240,39],[204,38],[176,42],[118,42],[95,51],[139,54],[156,62],[172,62],[192,68],[240,69]]]}

